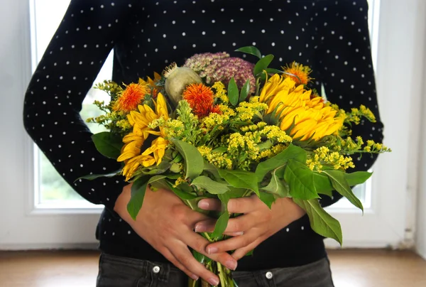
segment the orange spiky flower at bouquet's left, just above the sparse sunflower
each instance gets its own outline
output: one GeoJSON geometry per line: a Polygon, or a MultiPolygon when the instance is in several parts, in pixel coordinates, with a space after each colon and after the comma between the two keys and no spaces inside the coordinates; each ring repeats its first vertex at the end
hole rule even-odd
{"type": "Polygon", "coordinates": [[[150,94],[151,90],[148,85],[134,84],[126,86],[119,98],[114,104],[114,111],[130,112],[138,108],[138,104],[141,104],[141,101],[146,94],[150,94]]]}

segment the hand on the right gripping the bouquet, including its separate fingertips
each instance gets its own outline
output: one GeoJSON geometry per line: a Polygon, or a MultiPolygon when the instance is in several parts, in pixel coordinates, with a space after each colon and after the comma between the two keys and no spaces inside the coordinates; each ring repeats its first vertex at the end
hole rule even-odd
{"type": "MultiPolygon", "coordinates": [[[[198,202],[203,210],[221,210],[219,200],[203,199],[198,202]]],[[[269,209],[257,195],[243,198],[233,198],[228,202],[228,211],[242,214],[231,218],[224,234],[233,237],[207,246],[207,253],[214,254],[235,250],[232,256],[239,260],[258,244],[283,229],[291,222],[305,215],[290,198],[278,198],[269,209]]],[[[215,220],[197,222],[195,232],[213,232],[215,220]]]]}

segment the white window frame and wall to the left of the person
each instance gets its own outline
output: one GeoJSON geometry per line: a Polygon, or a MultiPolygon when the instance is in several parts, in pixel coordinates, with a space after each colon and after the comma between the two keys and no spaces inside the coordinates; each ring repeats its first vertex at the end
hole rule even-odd
{"type": "Polygon", "coordinates": [[[1,5],[7,9],[0,9],[0,249],[93,244],[99,215],[31,214],[32,144],[22,124],[31,77],[28,0],[1,5]]]}

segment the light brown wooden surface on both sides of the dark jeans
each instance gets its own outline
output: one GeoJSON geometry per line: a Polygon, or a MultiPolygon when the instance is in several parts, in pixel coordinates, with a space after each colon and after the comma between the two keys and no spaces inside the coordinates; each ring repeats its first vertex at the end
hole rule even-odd
{"type": "MultiPolygon", "coordinates": [[[[94,287],[98,256],[96,251],[0,251],[0,286],[94,287]]],[[[409,251],[336,250],[329,256],[336,287],[426,287],[426,261],[409,251]]]]}

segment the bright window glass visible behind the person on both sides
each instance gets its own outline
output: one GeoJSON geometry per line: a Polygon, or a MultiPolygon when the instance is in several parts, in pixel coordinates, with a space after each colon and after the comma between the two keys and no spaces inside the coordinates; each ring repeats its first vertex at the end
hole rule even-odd
{"type": "MultiPolygon", "coordinates": [[[[373,63],[376,64],[377,50],[377,26],[378,26],[378,2],[379,0],[368,0],[369,9],[369,28],[371,31],[371,43],[373,51],[373,63]]],[[[64,15],[70,0],[30,0],[31,6],[31,35],[32,35],[32,59],[33,70],[38,61],[43,56],[45,48],[50,42],[50,38],[55,33],[62,16],[64,15]],[[55,13],[51,13],[55,11],[55,13]]],[[[112,53],[107,62],[102,67],[101,72],[95,82],[102,82],[111,78],[112,53]]],[[[100,114],[98,109],[92,104],[94,99],[108,101],[108,97],[103,92],[90,90],[84,99],[83,108],[80,113],[82,119],[96,117],[100,114]]],[[[99,132],[102,126],[89,124],[92,132],[99,132]]],[[[38,207],[94,207],[75,193],[67,185],[55,168],[50,164],[47,158],[35,148],[35,205],[38,207]]],[[[368,181],[365,185],[360,185],[354,189],[354,193],[361,199],[364,207],[371,204],[371,183],[368,181]]],[[[348,208],[352,205],[347,200],[340,200],[332,208],[348,208]]]]}

